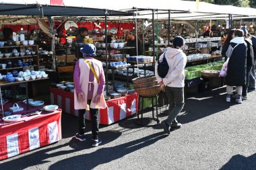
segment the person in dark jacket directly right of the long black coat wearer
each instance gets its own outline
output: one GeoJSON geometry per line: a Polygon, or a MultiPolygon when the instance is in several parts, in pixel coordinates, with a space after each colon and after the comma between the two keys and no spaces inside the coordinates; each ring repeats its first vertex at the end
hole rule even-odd
{"type": "Polygon", "coordinates": [[[247,36],[248,31],[246,29],[243,29],[245,34],[245,42],[247,43],[247,72],[246,72],[246,84],[243,85],[243,93],[242,93],[242,99],[247,99],[247,89],[249,86],[249,75],[251,72],[251,68],[254,65],[254,54],[253,54],[253,42],[251,39],[247,36]]]}

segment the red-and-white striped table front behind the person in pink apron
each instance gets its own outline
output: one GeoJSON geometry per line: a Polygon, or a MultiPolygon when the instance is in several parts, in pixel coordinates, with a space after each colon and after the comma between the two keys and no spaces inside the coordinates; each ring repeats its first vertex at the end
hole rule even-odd
{"type": "MultiPolygon", "coordinates": [[[[50,91],[52,104],[59,105],[59,108],[67,114],[78,116],[78,110],[74,109],[73,93],[55,87],[51,87],[50,91]]],[[[100,124],[113,124],[137,113],[139,111],[138,97],[139,95],[134,93],[106,101],[107,108],[99,110],[100,124]]],[[[89,112],[86,112],[86,120],[90,120],[89,112]]]]}

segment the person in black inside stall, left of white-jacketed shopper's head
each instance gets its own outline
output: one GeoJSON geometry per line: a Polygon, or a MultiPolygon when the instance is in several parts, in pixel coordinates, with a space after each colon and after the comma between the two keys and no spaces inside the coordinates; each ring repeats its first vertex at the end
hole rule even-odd
{"type": "Polygon", "coordinates": [[[133,46],[135,48],[127,49],[126,54],[129,54],[130,56],[141,55],[142,54],[141,42],[139,41],[139,39],[137,39],[137,43],[136,43],[135,32],[133,31],[127,32],[127,39],[128,39],[127,46],[133,46]]]}

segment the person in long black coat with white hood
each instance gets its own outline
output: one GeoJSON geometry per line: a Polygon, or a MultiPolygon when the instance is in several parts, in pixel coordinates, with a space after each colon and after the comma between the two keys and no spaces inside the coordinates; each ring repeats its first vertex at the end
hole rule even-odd
{"type": "Polygon", "coordinates": [[[226,101],[231,101],[233,86],[236,86],[236,102],[242,103],[242,90],[246,83],[247,72],[247,44],[244,40],[243,30],[235,30],[234,36],[235,38],[230,41],[233,50],[228,60],[226,73],[226,101]]]}

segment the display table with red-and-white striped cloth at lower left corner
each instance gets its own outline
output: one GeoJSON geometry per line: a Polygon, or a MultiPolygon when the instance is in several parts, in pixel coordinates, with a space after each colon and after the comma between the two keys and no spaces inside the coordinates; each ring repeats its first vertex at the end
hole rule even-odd
{"type": "MultiPolygon", "coordinates": [[[[11,104],[4,105],[8,108],[11,104]]],[[[26,105],[20,106],[25,107],[26,105]]],[[[5,110],[4,109],[4,110],[5,110]]],[[[38,108],[15,114],[34,112],[38,108]]],[[[2,118],[2,116],[0,117],[2,118]]],[[[61,140],[61,110],[42,112],[40,115],[22,116],[19,122],[0,120],[0,160],[32,151],[61,140]]]]}

